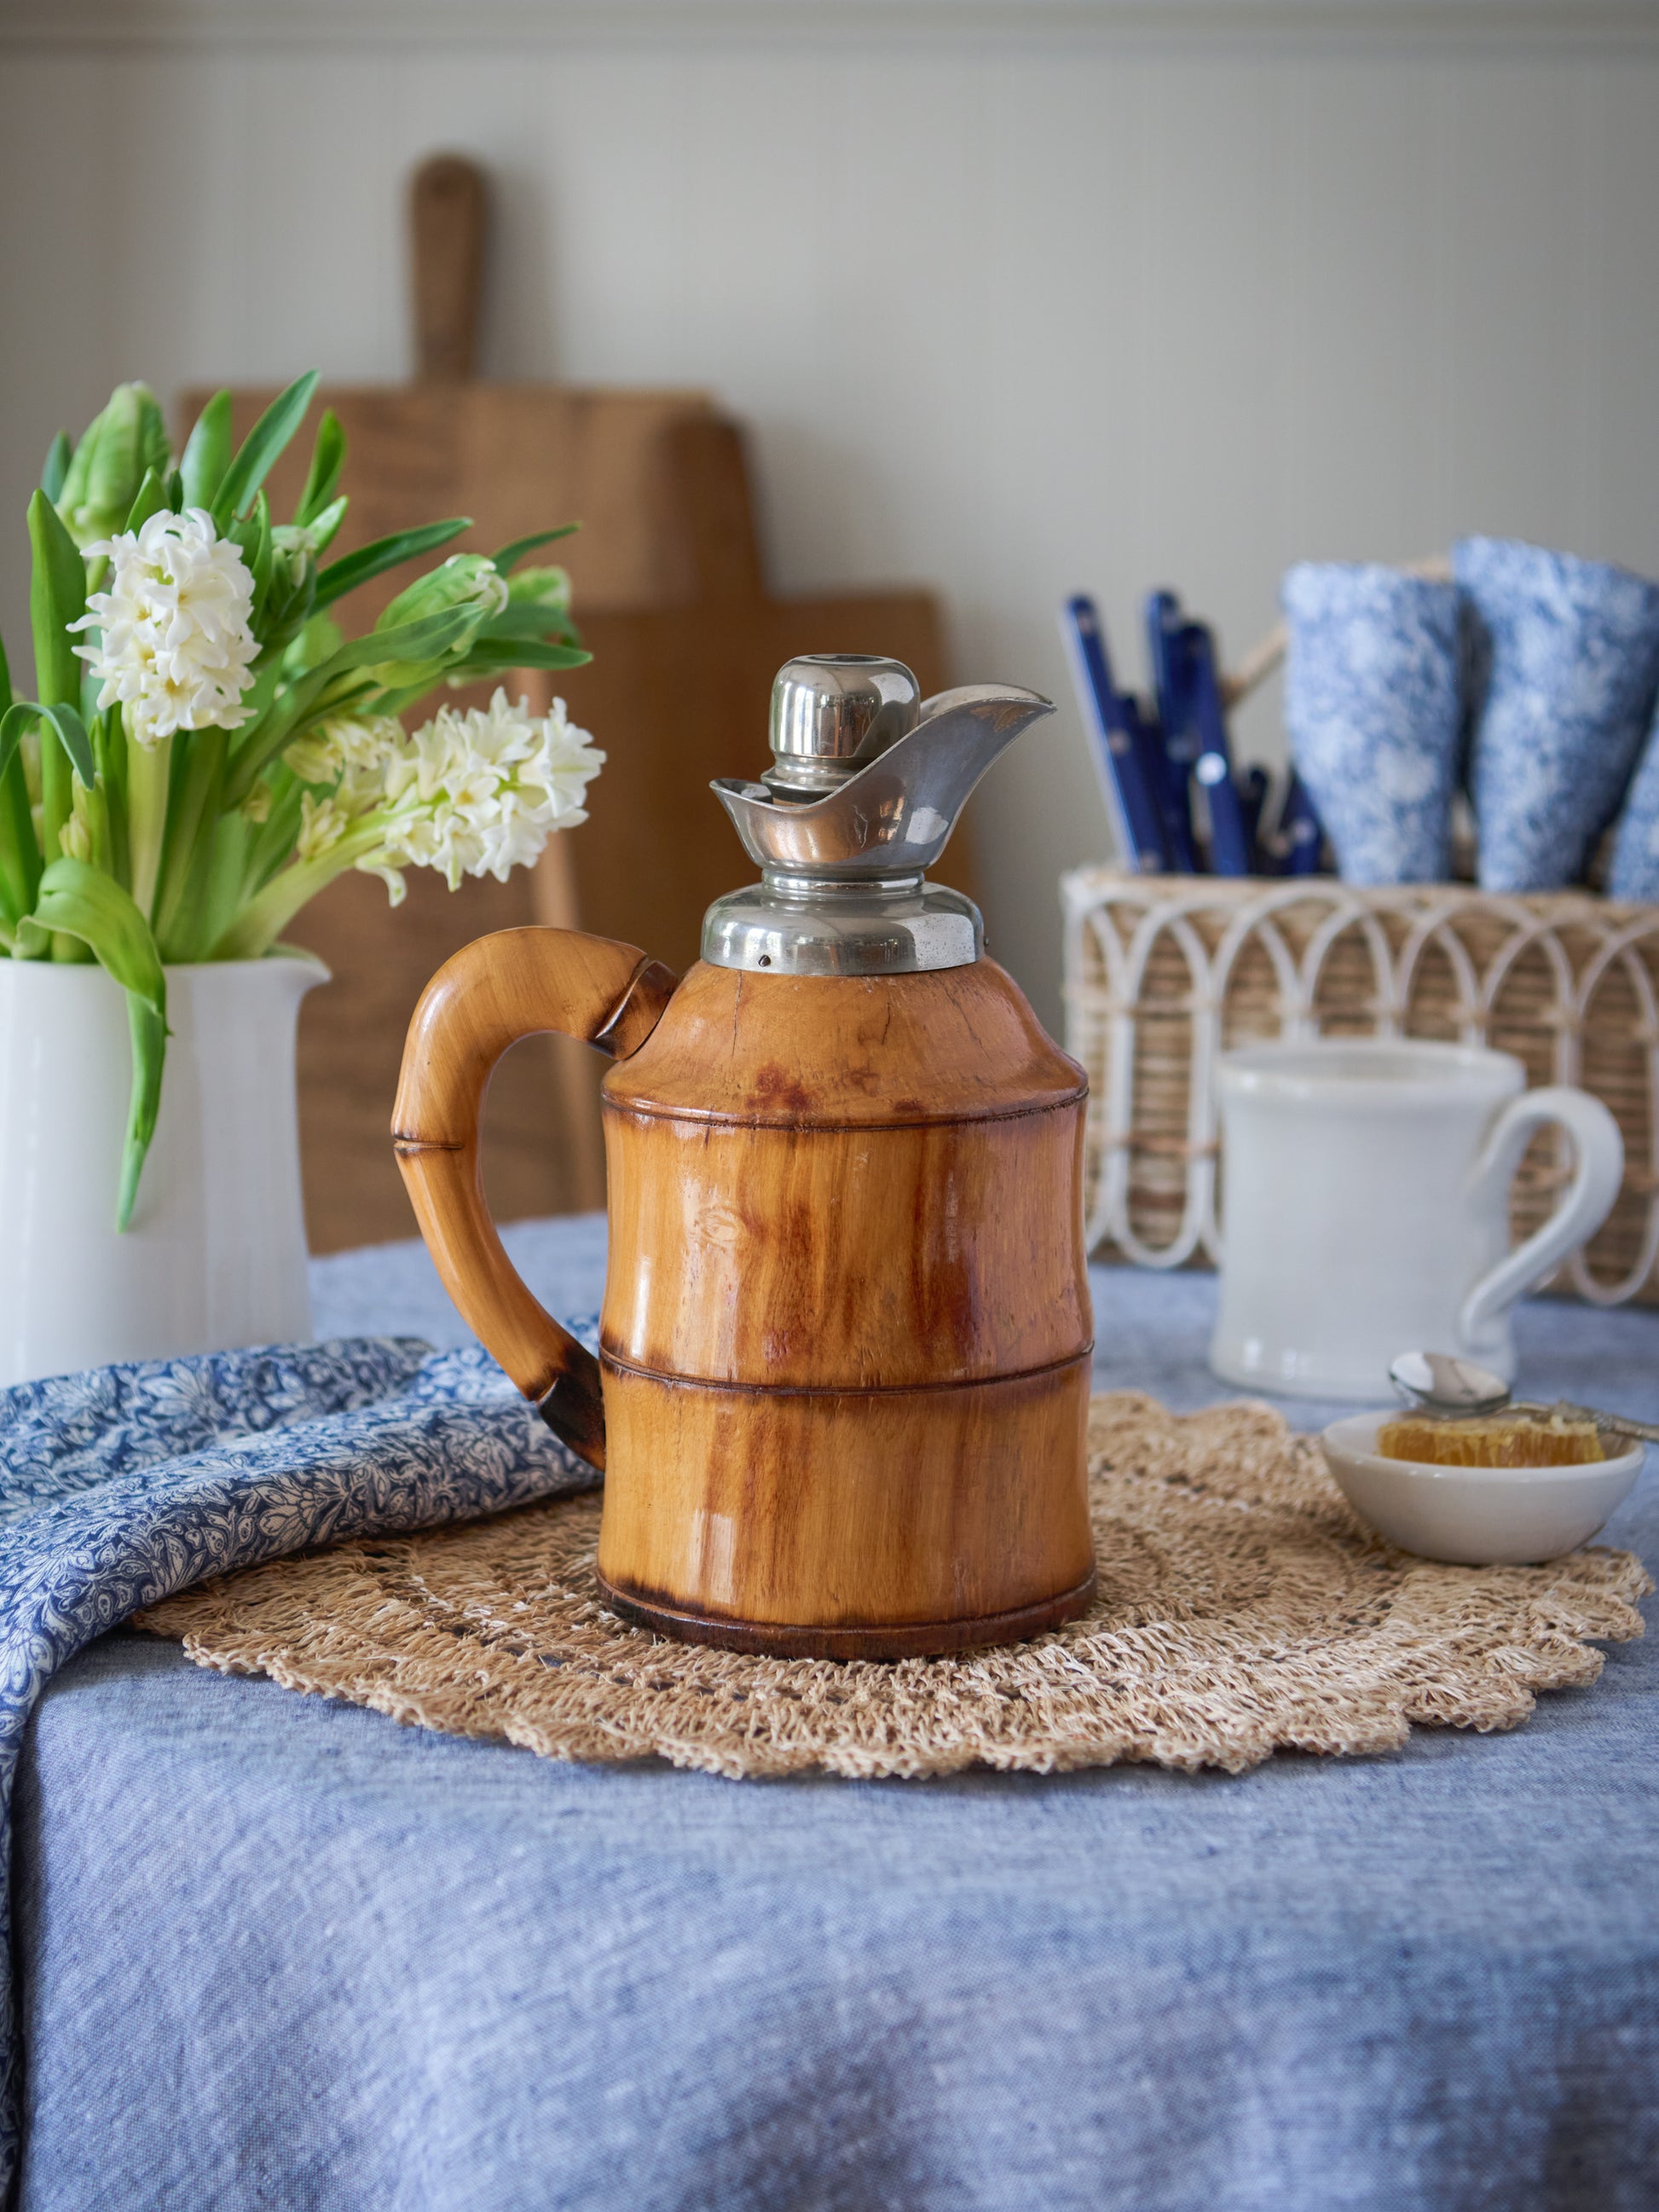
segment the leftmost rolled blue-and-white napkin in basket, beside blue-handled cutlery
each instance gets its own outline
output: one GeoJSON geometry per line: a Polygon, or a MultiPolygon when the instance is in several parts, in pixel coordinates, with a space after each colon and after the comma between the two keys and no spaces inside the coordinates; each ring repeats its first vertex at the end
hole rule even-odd
{"type": "Polygon", "coordinates": [[[1349,562],[1283,584],[1285,726],[1347,883],[1451,874],[1462,695],[1455,586],[1349,562]]]}

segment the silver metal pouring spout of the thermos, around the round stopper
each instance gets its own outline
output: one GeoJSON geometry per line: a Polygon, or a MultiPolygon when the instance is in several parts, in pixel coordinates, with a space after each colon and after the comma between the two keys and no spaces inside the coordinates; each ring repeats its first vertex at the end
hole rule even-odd
{"type": "Polygon", "coordinates": [[[717,776],[712,787],[768,874],[916,876],[945,852],[980,776],[1044,714],[1053,701],[1040,692],[964,684],[925,699],[914,730],[823,799],[779,799],[743,776],[717,776]]]}

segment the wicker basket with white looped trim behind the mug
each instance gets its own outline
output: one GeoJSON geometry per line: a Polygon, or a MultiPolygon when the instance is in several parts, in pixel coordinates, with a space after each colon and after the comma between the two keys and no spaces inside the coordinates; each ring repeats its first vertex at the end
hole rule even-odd
{"type": "MultiPolygon", "coordinates": [[[[1369,891],[1325,878],[1062,878],[1066,1044],[1088,1068],[1091,1252],[1214,1265],[1217,1053],[1261,1037],[1383,1035],[1491,1044],[1533,1084],[1579,1084],[1624,1133],[1624,1190],[1548,1287],[1659,1303],[1659,907],[1588,891],[1460,885],[1369,891]]],[[[1542,1133],[1513,1232],[1571,1175],[1542,1133]]]]}

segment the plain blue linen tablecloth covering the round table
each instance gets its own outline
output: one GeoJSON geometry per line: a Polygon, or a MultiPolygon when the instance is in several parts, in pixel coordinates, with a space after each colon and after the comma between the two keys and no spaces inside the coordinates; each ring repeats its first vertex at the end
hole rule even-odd
{"type": "MultiPolygon", "coordinates": [[[[599,1221],[507,1241],[595,1303],[599,1221]]],[[[1228,1396],[1208,1279],[1095,1301],[1102,1387],[1228,1396]]],[[[316,1310],[465,1338],[414,1245],[319,1263],[316,1310]]],[[[1659,1418],[1659,1316],[1517,1334],[1528,1389],[1659,1418]]],[[[1655,1489],[1608,1528],[1650,1562],[1655,1489]]],[[[18,1785],[22,2208],[1650,2208],[1657,1719],[1632,1644],[1387,1759],[726,1783],[117,1632],[18,1785]]]]}

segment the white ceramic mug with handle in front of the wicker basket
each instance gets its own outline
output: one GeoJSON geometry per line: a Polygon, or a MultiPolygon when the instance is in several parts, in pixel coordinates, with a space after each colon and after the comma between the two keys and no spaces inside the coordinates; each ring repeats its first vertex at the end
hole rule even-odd
{"type": "Polygon", "coordinates": [[[1327,1037],[1228,1053],[1221,1307],[1210,1365],[1296,1398],[1387,1398],[1400,1352],[1515,1376],[1509,1310],[1606,1221],[1624,1141],[1586,1091],[1526,1091],[1511,1053],[1327,1037]],[[1577,1166],[1509,1250],[1509,1186],[1533,1130],[1577,1166]]]}

